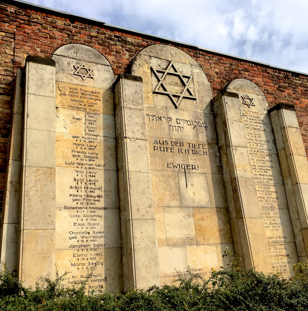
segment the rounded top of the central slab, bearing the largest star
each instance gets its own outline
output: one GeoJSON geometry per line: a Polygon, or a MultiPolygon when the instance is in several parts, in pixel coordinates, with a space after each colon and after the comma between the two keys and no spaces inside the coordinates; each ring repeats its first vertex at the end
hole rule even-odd
{"type": "Polygon", "coordinates": [[[142,77],[145,104],[211,112],[212,91],[206,74],[178,48],[154,44],[142,49],[131,73],[142,77]]]}

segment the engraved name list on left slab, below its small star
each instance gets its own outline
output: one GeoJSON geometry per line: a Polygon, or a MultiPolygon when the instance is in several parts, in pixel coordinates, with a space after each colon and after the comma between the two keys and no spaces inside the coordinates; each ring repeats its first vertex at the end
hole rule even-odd
{"type": "Polygon", "coordinates": [[[70,283],[88,279],[89,292],[102,293],[109,248],[120,247],[110,232],[119,222],[116,164],[104,158],[115,151],[114,138],[104,135],[110,117],[102,114],[101,90],[62,82],[56,89],[57,264],[70,283]]]}

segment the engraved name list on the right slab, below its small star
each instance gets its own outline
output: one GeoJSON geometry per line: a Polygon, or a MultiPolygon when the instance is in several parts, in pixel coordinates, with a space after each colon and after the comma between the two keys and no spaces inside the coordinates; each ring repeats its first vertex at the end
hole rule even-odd
{"type": "Polygon", "coordinates": [[[271,123],[267,114],[242,114],[273,272],[288,276],[297,254],[271,123]]]}

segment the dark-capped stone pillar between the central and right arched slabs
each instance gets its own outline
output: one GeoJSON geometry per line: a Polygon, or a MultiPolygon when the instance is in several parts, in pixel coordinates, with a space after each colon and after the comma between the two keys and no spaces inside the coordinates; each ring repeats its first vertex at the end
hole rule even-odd
{"type": "Polygon", "coordinates": [[[271,272],[238,94],[222,92],[213,108],[236,255],[243,257],[246,269],[271,272]]]}

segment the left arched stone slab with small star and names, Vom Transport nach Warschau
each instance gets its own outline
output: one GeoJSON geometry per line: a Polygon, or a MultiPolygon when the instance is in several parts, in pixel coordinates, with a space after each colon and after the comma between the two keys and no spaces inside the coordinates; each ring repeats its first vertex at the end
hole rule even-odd
{"type": "Polygon", "coordinates": [[[68,44],[56,61],[55,262],[71,284],[122,289],[112,83],[107,60],[68,44]]]}

